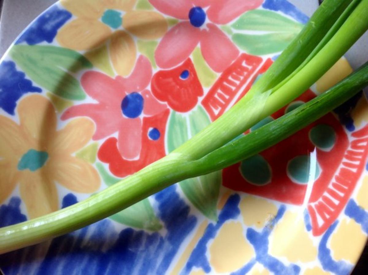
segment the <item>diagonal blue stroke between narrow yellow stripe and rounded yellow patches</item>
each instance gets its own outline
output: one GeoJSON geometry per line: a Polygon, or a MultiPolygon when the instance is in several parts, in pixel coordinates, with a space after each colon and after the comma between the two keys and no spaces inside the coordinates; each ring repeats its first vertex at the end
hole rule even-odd
{"type": "Polygon", "coordinates": [[[229,219],[235,219],[240,214],[240,209],[238,208],[239,202],[240,196],[238,194],[229,197],[229,200],[227,200],[219,215],[219,220],[215,225],[210,223],[207,226],[204,235],[199,239],[197,246],[192,251],[181,274],[189,274],[193,267],[202,268],[206,273],[211,271],[210,264],[206,257],[207,244],[210,240],[215,238],[217,231],[224,222],[229,219]]]}

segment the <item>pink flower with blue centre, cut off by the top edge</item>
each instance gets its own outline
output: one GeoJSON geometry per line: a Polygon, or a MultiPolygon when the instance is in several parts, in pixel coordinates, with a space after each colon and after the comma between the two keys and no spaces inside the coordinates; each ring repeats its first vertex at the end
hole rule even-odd
{"type": "Polygon", "coordinates": [[[182,21],[171,28],[155,52],[162,68],[177,66],[200,43],[208,65],[216,72],[225,70],[239,54],[237,47],[215,24],[227,24],[263,0],[149,0],[162,13],[182,21]],[[213,23],[208,22],[212,21],[213,23]]]}

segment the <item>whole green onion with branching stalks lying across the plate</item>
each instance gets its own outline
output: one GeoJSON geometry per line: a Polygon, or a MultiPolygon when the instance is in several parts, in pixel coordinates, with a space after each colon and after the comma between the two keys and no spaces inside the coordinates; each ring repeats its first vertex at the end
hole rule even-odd
{"type": "Polygon", "coordinates": [[[173,183],[252,156],[343,103],[368,84],[367,64],[325,94],[230,142],[302,94],[332,67],[368,29],[367,14],[368,0],[325,0],[268,73],[223,116],[169,155],[98,194],[51,214],[1,228],[0,254],[79,229],[173,183]]]}

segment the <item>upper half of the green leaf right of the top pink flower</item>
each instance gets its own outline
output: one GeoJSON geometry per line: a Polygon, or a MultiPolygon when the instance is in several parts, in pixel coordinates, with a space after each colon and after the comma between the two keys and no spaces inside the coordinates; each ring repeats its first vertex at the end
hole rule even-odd
{"type": "Polygon", "coordinates": [[[237,30],[268,32],[300,32],[303,25],[269,10],[251,10],[241,15],[231,27],[237,30]]]}

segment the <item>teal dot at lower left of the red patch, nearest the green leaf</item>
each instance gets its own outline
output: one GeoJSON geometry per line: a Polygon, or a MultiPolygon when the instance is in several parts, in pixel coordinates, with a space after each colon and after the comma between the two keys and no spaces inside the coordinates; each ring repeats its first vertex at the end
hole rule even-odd
{"type": "Polygon", "coordinates": [[[242,161],[240,173],[245,180],[255,185],[266,185],[271,181],[271,168],[261,155],[255,155],[242,161]]]}

